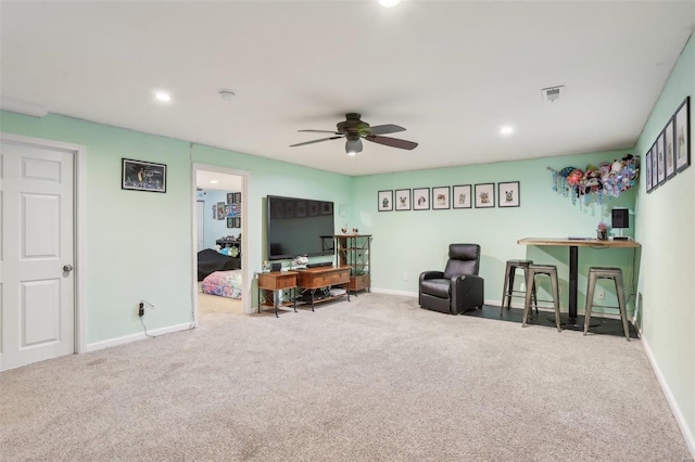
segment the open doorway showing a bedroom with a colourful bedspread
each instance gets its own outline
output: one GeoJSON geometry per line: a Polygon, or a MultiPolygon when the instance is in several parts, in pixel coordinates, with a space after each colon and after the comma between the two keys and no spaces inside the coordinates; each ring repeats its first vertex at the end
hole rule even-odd
{"type": "Polygon", "coordinates": [[[193,164],[193,306],[204,312],[251,312],[245,216],[248,172],[193,164]]]}

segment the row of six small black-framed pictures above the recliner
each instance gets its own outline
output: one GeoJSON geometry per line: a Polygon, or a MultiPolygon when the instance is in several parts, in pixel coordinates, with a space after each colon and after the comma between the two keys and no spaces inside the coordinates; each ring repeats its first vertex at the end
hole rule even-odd
{"type": "Polygon", "coordinates": [[[378,193],[379,211],[448,210],[451,208],[519,207],[519,182],[386,190],[378,193]]]}

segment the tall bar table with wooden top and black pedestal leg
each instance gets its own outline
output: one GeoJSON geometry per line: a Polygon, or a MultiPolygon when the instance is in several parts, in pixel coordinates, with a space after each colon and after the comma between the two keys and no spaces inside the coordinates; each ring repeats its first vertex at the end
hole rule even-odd
{"type": "Polygon", "coordinates": [[[577,322],[577,281],[578,274],[578,261],[579,261],[579,247],[593,247],[593,248],[635,248],[640,247],[640,243],[635,241],[599,241],[597,239],[555,239],[555,238],[525,238],[517,241],[517,244],[522,245],[561,245],[569,247],[569,317],[567,322],[563,320],[563,324],[566,328],[574,328],[583,330],[584,326],[577,322]]]}

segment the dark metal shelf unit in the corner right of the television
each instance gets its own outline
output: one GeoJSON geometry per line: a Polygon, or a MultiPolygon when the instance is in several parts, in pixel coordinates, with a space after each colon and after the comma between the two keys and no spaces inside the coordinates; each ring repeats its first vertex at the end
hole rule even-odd
{"type": "Polygon", "coordinates": [[[371,234],[337,234],[334,238],[338,265],[351,267],[350,291],[369,292],[371,234]]]}

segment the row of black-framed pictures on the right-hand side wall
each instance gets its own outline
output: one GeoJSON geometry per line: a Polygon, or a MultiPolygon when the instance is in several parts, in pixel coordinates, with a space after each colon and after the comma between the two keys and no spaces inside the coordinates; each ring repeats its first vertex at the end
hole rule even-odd
{"type": "Polygon", "coordinates": [[[691,97],[675,110],[645,154],[647,193],[656,191],[691,165],[691,97]]]}

